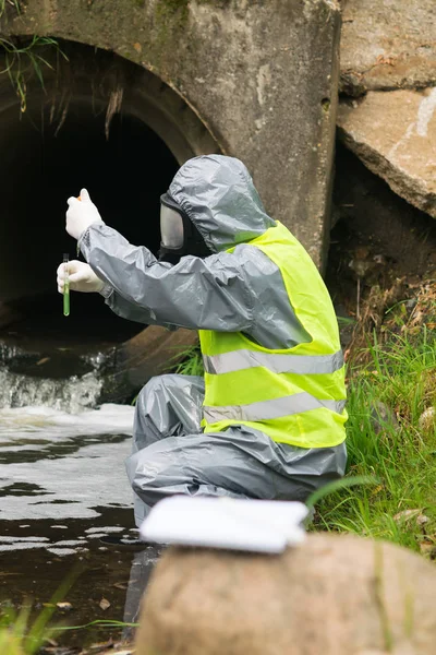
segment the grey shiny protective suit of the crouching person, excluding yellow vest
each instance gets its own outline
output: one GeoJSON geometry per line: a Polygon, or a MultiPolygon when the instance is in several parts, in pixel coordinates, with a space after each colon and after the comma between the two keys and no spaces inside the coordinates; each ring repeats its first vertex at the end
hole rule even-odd
{"type": "MultiPolygon", "coordinates": [[[[221,155],[194,157],[175,174],[169,193],[213,254],[171,265],[107,225],[92,225],[80,246],[108,285],[104,295],[111,310],[145,324],[243,332],[267,348],[306,341],[279,269],[249,243],[275,222],[245,166],[221,155]]],[[[137,525],[149,507],[173,493],[304,501],[343,475],[343,443],[301,449],[246,426],[204,433],[203,396],[203,379],[191,376],[156,377],[141,391],[126,461],[137,525]]]]}

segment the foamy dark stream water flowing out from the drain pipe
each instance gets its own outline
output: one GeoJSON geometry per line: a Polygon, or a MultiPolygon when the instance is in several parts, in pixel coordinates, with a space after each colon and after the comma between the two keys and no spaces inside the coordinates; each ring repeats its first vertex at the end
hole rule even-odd
{"type": "MultiPolygon", "coordinates": [[[[134,408],[95,408],[99,385],[98,370],[49,380],[0,369],[0,609],[32,602],[36,616],[74,572],[63,598],[72,609],[57,610],[55,621],[137,619],[161,549],[134,545],[124,469],[134,408]],[[108,536],[133,544],[110,545],[108,536]]],[[[66,631],[57,642],[78,652],[109,636],[129,630],[66,631]]]]}

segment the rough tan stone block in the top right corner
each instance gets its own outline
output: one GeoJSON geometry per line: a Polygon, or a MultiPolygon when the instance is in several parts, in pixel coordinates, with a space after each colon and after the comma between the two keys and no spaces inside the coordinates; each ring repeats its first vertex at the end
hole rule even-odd
{"type": "Polygon", "coordinates": [[[436,82],[434,0],[348,0],[342,14],[340,90],[432,86],[436,82]]]}

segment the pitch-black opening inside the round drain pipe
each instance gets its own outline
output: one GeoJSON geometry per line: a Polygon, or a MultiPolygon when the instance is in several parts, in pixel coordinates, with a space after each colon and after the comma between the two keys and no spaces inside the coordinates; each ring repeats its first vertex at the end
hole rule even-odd
{"type": "Polygon", "coordinates": [[[159,196],[178,169],[174,156],[128,114],[113,116],[108,138],[105,112],[94,115],[84,103],[70,103],[58,132],[48,109],[38,116],[38,107],[29,107],[19,124],[16,109],[9,114],[1,122],[3,130],[9,126],[1,294],[11,321],[0,338],[37,348],[47,340],[55,347],[101,348],[130,338],[143,326],[117,317],[95,294],[72,293],[70,317],[62,314],[56,270],[63,253],[77,259],[76,241],[65,233],[66,199],[86,187],[107,225],[157,254],[159,196]]]}

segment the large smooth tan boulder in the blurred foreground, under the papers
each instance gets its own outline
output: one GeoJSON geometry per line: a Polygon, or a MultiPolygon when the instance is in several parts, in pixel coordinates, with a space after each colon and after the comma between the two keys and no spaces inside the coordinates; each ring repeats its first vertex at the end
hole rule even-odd
{"type": "Polygon", "coordinates": [[[170,547],[142,603],[136,655],[428,655],[436,569],[353,535],[280,556],[170,547]]]}

